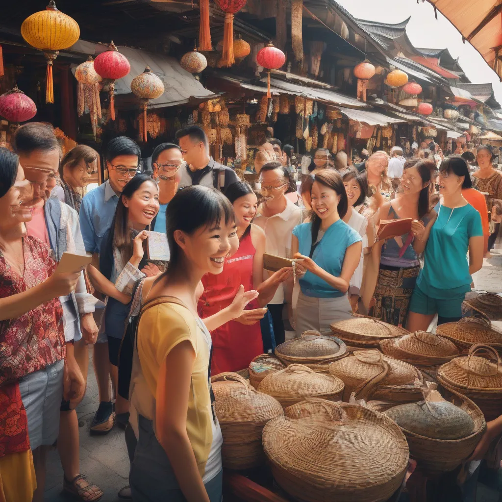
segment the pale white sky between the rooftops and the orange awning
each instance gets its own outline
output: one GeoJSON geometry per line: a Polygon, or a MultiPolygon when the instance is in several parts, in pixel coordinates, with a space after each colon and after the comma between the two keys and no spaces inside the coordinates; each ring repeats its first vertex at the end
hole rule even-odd
{"type": "Polygon", "coordinates": [[[502,104],[502,83],[495,72],[469,42],[462,43],[460,33],[440,12],[438,19],[435,19],[434,8],[429,2],[422,0],[419,3],[417,0],[336,0],[336,2],[358,19],[392,24],[400,23],[411,16],[406,33],[415,47],[431,49],[447,47],[454,58],[460,56],[458,62],[472,83],[493,84],[495,99],[502,104]]]}

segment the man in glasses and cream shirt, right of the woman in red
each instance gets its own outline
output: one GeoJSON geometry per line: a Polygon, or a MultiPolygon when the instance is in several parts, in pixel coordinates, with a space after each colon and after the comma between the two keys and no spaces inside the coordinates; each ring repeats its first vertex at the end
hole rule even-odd
{"type": "MultiPolygon", "coordinates": [[[[260,171],[260,183],[264,199],[258,207],[255,223],[265,231],[266,252],[282,258],[292,258],[292,232],[302,222],[302,211],[285,196],[289,187],[289,171],[280,162],[269,162],[260,171]]],[[[285,287],[288,287],[287,283],[279,285],[268,305],[277,345],[283,343],[285,338],[282,318],[285,287]]],[[[291,292],[292,289],[289,293],[291,292]]]]}

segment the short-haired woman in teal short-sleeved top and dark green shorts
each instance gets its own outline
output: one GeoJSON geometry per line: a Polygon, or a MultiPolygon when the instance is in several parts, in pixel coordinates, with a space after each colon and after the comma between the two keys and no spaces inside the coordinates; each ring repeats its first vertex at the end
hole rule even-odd
{"type": "Polygon", "coordinates": [[[430,229],[424,268],[411,299],[410,331],[426,331],[436,314],[438,324],[458,321],[462,316],[462,301],[471,290],[471,275],[483,265],[481,216],[462,196],[462,189],[471,186],[467,164],[460,155],[450,155],[441,162],[436,188],[443,203],[430,229]]]}

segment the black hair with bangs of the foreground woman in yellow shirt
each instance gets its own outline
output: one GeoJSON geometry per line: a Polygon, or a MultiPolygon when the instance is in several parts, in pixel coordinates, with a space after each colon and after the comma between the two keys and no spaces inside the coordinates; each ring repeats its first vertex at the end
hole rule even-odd
{"type": "Polygon", "coordinates": [[[174,232],[181,230],[188,235],[199,228],[219,227],[223,218],[225,225],[235,222],[230,201],[215,188],[192,185],[179,190],[166,211],[166,233],[171,251],[171,260],[165,274],[180,272],[183,268],[183,250],[174,240],[174,232]]]}

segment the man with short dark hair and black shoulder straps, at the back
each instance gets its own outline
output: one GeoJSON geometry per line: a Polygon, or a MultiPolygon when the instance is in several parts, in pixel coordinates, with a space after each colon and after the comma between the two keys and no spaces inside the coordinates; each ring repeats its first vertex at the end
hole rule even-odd
{"type": "Polygon", "coordinates": [[[187,163],[187,167],[181,173],[178,188],[203,185],[224,192],[227,186],[239,181],[233,169],[222,166],[209,155],[209,142],[200,127],[190,126],[180,129],[176,133],[176,139],[180,143],[181,153],[187,163]]]}

